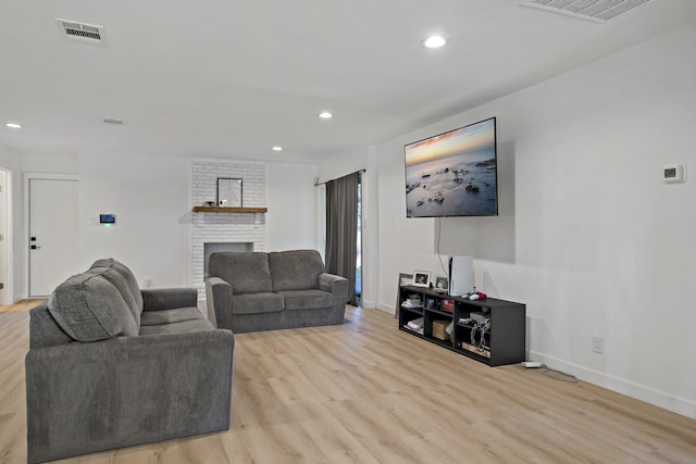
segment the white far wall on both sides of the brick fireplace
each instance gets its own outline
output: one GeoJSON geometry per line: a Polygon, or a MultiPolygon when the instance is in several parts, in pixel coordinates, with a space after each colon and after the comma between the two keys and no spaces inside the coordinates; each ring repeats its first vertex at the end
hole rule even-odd
{"type": "MultiPolygon", "coordinates": [[[[191,160],[84,153],[78,171],[80,266],[113,256],[141,286],[187,286],[191,160]],[[99,213],[114,213],[116,225],[90,226],[99,213]]],[[[316,166],[269,163],[266,173],[266,249],[316,248],[316,166]]]]}

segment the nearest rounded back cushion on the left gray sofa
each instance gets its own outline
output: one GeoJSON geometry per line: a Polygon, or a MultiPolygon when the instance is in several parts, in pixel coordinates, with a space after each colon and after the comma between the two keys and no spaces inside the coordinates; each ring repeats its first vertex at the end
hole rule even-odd
{"type": "Polygon", "coordinates": [[[59,285],[48,310],[77,341],[138,335],[138,324],[119,289],[101,273],[85,272],[59,285]]]}

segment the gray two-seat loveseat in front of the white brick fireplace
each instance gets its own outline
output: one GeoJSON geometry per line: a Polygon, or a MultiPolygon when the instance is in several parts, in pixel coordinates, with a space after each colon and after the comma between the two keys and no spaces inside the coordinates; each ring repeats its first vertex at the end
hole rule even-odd
{"type": "Polygon", "coordinates": [[[315,250],[219,252],[208,262],[209,317],[235,334],[343,324],[348,279],[315,250]]]}

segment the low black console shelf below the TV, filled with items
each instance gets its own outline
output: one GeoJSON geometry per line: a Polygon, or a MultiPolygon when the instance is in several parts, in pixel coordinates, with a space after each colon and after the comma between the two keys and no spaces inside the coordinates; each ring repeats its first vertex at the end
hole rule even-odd
{"type": "Polygon", "coordinates": [[[526,306],[513,301],[486,298],[472,301],[461,297],[450,297],[430,288],[415,286],[399,287],[399,330],[423,338],[430,342],[452,350],[464,356],[499,366],[524,361],[526,306]],[[423,308],[405,308],[407,301],[420,298],[423,308]],[[445,302],[452,302],[452,311],[445,308],[445,302]],[[483,330],[476,323],[461,323],[460,319],[472,318],[472,313],[489,318],[489,329],[483,330]],[[422,334],[408,328],[408,323],[423,318],[422,334]],[[436,328],[434,327],[437,326],[436,328]],[[448,340],[443,340],[442,327],[452,324],[452,333],[448,340]],[[472,331],[474,343],[472,343],[472,331]]]}

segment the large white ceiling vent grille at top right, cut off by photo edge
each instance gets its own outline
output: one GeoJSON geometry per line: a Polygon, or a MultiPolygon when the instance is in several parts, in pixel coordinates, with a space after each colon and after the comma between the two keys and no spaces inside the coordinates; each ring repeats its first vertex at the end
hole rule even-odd
{"type": "Polygon", "coordinates": [[[649,0],[527,0],[522,7],[604,23],[649,0]]]}

